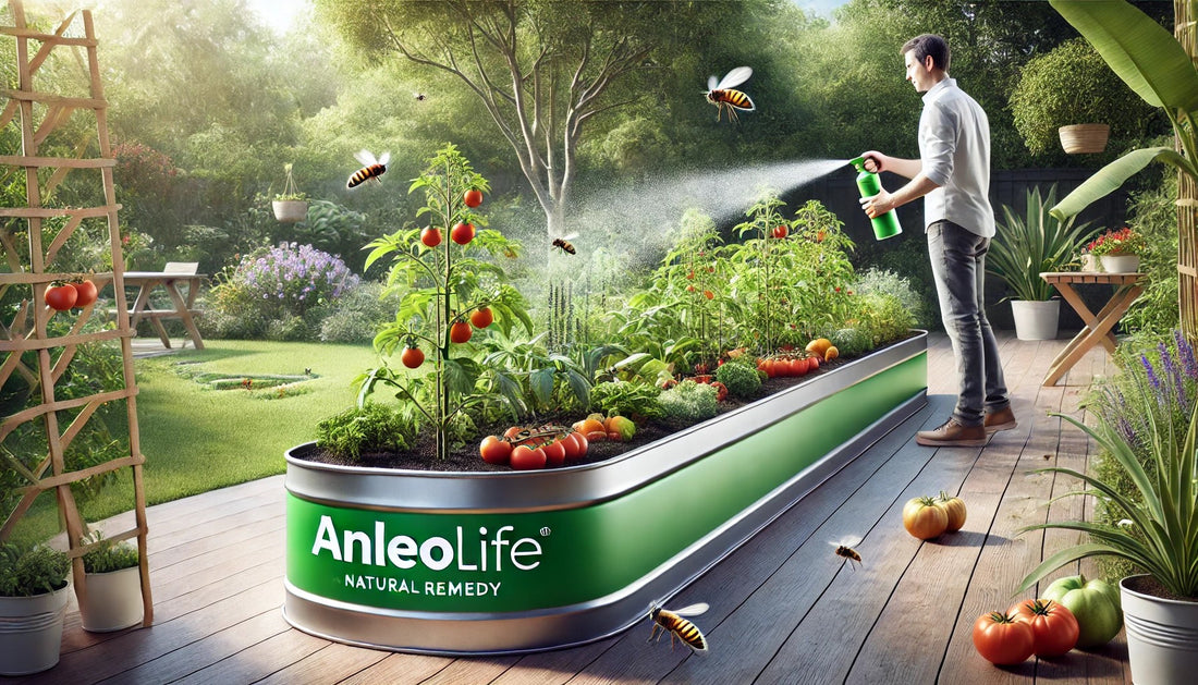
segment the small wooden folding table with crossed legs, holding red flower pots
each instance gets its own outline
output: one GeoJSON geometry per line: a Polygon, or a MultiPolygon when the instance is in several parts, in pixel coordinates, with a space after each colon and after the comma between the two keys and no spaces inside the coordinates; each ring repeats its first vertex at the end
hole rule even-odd
{"type": "Polygon", "coordinates": [[[1115,351],[1115,334],[1111,329],[1114,328],[1119,319],[1127,311],[1131,303],[1144,291],[1144,286],[1139,285],[1139,280],[1144,278],[1144,274],[1075,271],[1046,272],[1041,273],[1040,278],[1060,291],[1061,297],[1082,317],[1082,323],[1084,323],[1082,331],[1057,354],[1057,358],[1048,366],[1048,375],[1045,376],[1043,384],[1055,386],[1057,381],[1095,345],[1101,344],[1108,353],[1115,351]],[[1111,295],[1107,304],[1095,315],[1085,307],[1077,291],[1073,290],[1073,286],[1078,284],[1113,285],[1115,286],[1115,291],[1111,295]]]}

